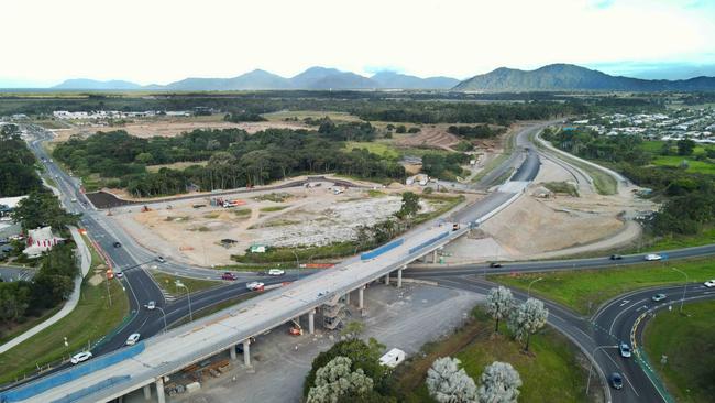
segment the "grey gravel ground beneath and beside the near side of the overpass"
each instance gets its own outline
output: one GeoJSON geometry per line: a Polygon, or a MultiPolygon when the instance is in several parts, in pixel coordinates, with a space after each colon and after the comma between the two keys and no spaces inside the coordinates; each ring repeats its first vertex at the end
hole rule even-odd
{"type": "MultiPolygon", "coordinates": [[[[353,299],[354,302],[354,299],[353,299]]],[[[461,326],[472,307],[482,302],[475,294],[432,285],[409,284],[397,290],[374,283],[365,293],[366,316],[360,317],[354,306],[351,320],[362,322],[363,339],[376,338],[385,350],[394,347],[406,352],[407,358],[419,353],[428,341],[450,335],[461,326]]],[[[306,325],[304,318],[302,325],[306,325]]],[[[241,353],[233,361],[233,369],[220,378],[208,377],[201,389],[194,393],[167,396],[174,403],[228,403],[228,402],[300,402],[302,382],[310,371],[312,359],[341,339],[338,331],[321,329],[316,324],[316,335],[293,337],[287,326],[258,336],[251,346],[253,368],[243,366],[241,353]]],[[[216,359],[226,359],[228,353],[216,359]]],[[[182,374],[172,381],[185,383],[182,374]]],[[[142,390],[124,396],[124,402],[146,402],[142,390]]],[[[156,402],[156,391],[152,400],[156,402]]]]}

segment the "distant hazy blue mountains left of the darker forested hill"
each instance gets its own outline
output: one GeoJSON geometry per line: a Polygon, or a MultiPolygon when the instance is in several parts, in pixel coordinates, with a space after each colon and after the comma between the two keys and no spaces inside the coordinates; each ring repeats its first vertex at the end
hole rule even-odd
{"type": "Polygon", "coordinates": [[[233,78],[185,78],[167,85],[141,86],[128,81],[68,79],[54,89],[148,89],[172,91],[257,90],[257,89],[450,89],[460,81],[449,77],[419,78],[394,72],[372,77],[336,68],[310,67],[295,77],[255,69],[233,78]]]}

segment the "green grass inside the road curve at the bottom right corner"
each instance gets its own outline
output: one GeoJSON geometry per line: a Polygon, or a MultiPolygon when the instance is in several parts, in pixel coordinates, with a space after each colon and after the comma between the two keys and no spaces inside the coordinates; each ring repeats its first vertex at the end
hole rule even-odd
{"type": "Polygon", "coordinates": [[[715,395],[715,302],[661,311],[644,336],[651,364],[679,402],[712,402],[715,395]],[[661,364],[662,356],[668,362],[661,364]]]}

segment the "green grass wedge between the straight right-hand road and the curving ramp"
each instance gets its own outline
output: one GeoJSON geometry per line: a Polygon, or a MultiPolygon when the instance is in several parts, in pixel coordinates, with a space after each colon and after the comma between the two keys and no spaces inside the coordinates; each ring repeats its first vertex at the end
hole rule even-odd
{"type": "Polygon", "coordinates": [[[618,269],[492,275],[488,277],[497,283],[522,290],[526,290],[531,281],[543,277],[543,280],[534,283],[531,294],[570,306],[582,314],[593,314],[602,303],[626,292],[682,283],[684,276],[671,268],[678,268],[688,273],[691,282],[715,279],[715,262],[710,259],[644,263],[618,269]]]}

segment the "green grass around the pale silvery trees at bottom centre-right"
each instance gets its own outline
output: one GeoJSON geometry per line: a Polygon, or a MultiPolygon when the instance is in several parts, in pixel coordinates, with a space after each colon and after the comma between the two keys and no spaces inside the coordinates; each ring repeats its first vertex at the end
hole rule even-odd
{"type": "MultiPolygon", "coordinates": [[[[435,402],[427,391],[427,370],[440,357],[455,357],[479,385],[484,367],[494,361],[509,362],[519,372],[524,385],[519,402],[583,402],[587,371],[576,358],[575,347],[558,331],[547,327],[531,337],[530,355],[521,352],[508,335],[494,335],[494,323],[481,308],[474,320],[446,340],[426,346],[425,356],[396,373],[400,402],[435,402]]],[[[505,326],[502,327],[505,330],[505,326]]]]}

